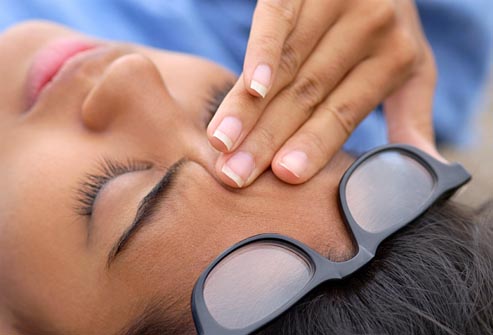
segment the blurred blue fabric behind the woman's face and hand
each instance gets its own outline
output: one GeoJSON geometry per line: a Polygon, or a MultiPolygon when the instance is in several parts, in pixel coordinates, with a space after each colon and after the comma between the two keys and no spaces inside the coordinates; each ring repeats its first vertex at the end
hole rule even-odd
{"type": "MultiPolygon", "coordinates": [[[[0,0],[0,30],[28,19],[63,23],[87,34],[182,51],[241,72],[253,0],[0,0]]],[[[417,0],[439,78],[434,122],[440,143],[466,145],[491,63],[492,0],[417,0]]],[[[345,148],[386,142],[381,111],[345,148]]]]}

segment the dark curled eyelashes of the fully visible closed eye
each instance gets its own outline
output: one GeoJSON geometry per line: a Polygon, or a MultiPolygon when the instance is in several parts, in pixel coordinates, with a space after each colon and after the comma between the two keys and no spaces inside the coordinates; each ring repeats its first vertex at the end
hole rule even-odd
{"type": "Polygon", "coordinates": [[[98,163],[98,171],[86,174],[80,183],[77,190],[77,213],[84,217],[91,217],[96,198],[109,181],[125,173],[144,171],[151,167],[152,164],[138,160],[128,159],[125,162],[118,162],[103,158],[98,163]]]}

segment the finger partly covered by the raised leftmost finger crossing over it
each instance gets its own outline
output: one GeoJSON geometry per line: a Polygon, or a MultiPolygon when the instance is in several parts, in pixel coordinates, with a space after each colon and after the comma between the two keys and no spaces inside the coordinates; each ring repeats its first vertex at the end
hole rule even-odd
{"type": "Polygon", "coordinates": [[[266,106],[296,76],[305,58],[316,46],[319,40],[317,36],[324,34],[331,22],[336,20],[337,14],[337,10],[330,10],[329,2],[326,1],[318,6],[303,7],[297,29],[284,44],[279,71],[269,95],[265,99],[253,97],[248,93],[248,85],[245,84],[248,81],[242,75],[225,97],[207,127],[207,136],[215,149],[227,153],[234,151],[242,143],[266,106]],[[320,13],[328,14],[321,16],[320,13]]]}

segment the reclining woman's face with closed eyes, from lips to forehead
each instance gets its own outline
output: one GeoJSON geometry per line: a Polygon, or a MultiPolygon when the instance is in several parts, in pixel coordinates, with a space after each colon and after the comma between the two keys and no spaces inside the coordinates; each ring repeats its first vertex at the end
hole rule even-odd
{"type": "Polygon", "coordinates": [[[351,254],[336,201],[349,157],[300,186],[215,177],[205,129],[227,70],[47,23],[0,50],[0,333],[114,334],[156,303],[190,325],[201,271],[259,233],[351,254]],[[44,84],[74,45],[87,50],[44,84]]]}

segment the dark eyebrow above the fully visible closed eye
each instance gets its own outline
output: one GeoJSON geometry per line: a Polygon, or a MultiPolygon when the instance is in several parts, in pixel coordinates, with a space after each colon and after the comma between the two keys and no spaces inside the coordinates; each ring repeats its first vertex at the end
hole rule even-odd
{"type": "Polygon", "coordinates": [[[156,213],[161,199],[165,198],[172,189],[173,181],[176,179],[180,168],[187,162],[186,158],[182,158],[174,163],[164,174],[161,180],[152,188],[152,190],[142,199],[137,208],[135,218],[130,226],[125,229],[120,238],[111,248],[106,262],[107,267],[115,258],[128,246],[129,241],[142,227],[150,224],[153,215],[156,213]]]}

